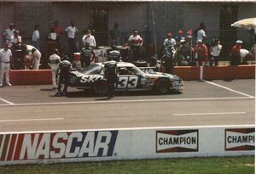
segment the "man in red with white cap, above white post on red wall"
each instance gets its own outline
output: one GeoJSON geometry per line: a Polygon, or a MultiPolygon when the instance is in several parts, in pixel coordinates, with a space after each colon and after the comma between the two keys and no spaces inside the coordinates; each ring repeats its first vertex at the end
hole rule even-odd
{"type": "Polygon", "coordinates": [[[202,42],[202,40],[197,40],[197,43],[194,48],[195,53],[195,60],[198,61],[198,65],[202,65],[202,62],[205,62],[205,65],[207,65],[208,61],[208,48],[207,46],[202,42]]]}

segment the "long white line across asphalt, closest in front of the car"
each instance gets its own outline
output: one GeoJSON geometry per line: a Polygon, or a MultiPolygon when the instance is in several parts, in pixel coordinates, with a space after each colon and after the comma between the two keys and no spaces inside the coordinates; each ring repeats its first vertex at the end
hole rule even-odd
{"type": "Polygon", "coordinates": [[[240,98],[166,98],[166,99],[131,99],[131,100],[108,100],[108,101],[86,101],[86,102],[52,102],[52,103],[32,103],[32,104],[0,104],[1,106],[34,106],[34,105],[61,105],[61,104],[115,104],[115,103],[141,103],[141,102],[177,102],[177,101],[207,101],[207,100],[234,100],[253,99],[248,97],[240,98]]]}

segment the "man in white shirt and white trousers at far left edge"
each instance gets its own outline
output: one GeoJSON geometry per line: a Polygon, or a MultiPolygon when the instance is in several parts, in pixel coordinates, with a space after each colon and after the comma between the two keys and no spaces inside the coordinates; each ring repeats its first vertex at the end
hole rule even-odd
{"type": "Polygon", "coordinates": [[[0,50],[0,87],[3,87],[3,75],[5,74],[5,83],[7,86],[12,86],[9,83],[9,70],[12,63],[12,52],[9,49],[9,44],[4,44],[4,48],[0,50]]]}

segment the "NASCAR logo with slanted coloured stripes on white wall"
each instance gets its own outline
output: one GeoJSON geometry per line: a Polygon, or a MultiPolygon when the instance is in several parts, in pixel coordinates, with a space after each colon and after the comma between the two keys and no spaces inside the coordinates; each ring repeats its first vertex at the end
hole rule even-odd
{"type": "Polygon", "coordinates": [[[113,156],[118,131],[0,135],[0,161],[113,156]]]}

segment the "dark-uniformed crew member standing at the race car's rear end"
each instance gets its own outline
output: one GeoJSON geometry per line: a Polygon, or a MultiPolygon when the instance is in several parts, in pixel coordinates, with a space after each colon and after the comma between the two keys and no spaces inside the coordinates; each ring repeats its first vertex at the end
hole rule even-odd
{"type": "Polygon", "coordinates": [[[60,62],[60,79],[58,83],[58,92],[55,94],[56,96],[61,96],[61,95],[67,95],[67,86],[68,86],[68,73],[72,68],[71,63],[68,61],[67,55],[64,56],[63,60],[60,62]],[[64,82],[64,88],[63,91],[61,92],[61,83],[64,82]]]}

